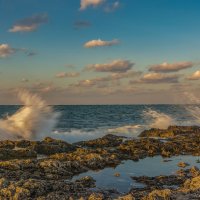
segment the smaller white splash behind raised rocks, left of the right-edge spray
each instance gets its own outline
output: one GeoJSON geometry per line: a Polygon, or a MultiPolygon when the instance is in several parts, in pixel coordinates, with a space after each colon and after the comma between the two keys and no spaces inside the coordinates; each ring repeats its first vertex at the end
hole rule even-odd
{"type": "Polygon", "coordinates": [[[174,124],[174,119],[169,115],[161,112],[157,112],[152,109],[143,111],[144,118],[150,120],[148,127],[166,129],[170,125],[174,124]]]}

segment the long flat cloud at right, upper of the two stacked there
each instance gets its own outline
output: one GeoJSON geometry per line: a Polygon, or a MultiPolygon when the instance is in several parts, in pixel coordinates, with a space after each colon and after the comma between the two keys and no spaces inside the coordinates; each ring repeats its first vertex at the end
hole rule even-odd
{"type": "Polygon", "coordinates": [[[194,66],[193,62],[177,62],[172,64],[164,62],[162,64],[150,66],[149,71],[163,72],[163,73],[177,72],[183,69],[191,68],[193,66],[194,66]]]}

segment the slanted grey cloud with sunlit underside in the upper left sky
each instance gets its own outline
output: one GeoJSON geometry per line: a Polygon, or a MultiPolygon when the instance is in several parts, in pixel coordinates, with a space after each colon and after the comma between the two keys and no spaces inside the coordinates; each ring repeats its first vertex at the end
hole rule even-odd
{"type": "Polygon", "coordinates": [[[46,14],[38,14],[16,22],[8,31],[12,33],[32,32],[38,29],[41,24],[47,22],[48,16],[46,14]]]}

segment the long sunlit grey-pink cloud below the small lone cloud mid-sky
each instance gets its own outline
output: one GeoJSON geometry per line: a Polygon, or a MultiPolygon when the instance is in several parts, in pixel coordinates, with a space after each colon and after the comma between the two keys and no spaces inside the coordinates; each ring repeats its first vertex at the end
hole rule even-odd
{"type": "Polygon", "coordinates": [[[86,67],[86,70],[96,72],[126,72],[134,66],[134,63],[129,60],[113,60],[105,64],[92,64],[86,67]]]}

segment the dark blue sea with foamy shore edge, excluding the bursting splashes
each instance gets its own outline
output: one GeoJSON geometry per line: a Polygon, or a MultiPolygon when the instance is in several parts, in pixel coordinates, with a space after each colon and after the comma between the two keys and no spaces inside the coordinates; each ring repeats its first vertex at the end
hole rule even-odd
{"type": "MultiPolygon", "coordinates": [[[[0,106],[0,117],[12,115],[19,108],[0,106]]],[[[169,115],[178,125],[193,123],[191,114],[182,105],[60,105],[54,106],[54,110],[61,113],[54,133],[69,142],[92,139],[107,133],[134,136],[152,123],[153,119],[144,116],[144,111],[148,109],[169,115]],[[142,127],[135,128],[136,125],[142,127]]]]}

